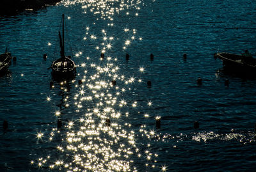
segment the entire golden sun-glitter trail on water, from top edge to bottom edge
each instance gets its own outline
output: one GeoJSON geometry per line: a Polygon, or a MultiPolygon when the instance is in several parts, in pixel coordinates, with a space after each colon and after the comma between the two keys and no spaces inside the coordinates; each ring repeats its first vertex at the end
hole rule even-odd
{"type": "MultiPolygon", "coordinates": [[[[141,1],[63,1],[63,5],[67,7],[78,3],[83,4],[84,13],[99,15],[96,20],[108,19],[113,22],[113,15],[120,14],[121,11],[130,15],[130,9],[133,12],[134,8],[140,10],[141,1]]],[[[134,15],[138,16],[138,13],[134,15]]],[[[124,40],[124,45],[121,45],[122,49],[127,49],[132,40],[136,39],[136,29],[124,28],[123,32],[131,33],[124,40]]],[[[108,36],[104,29],[101,34],[102,47],[97,46],[97,50],[106,53],[109,49],[116,48],[112,45],[114,36],[108,36]]],[[[93,41],[97,38],[98,36],[90,33],[90,27],[86,27],[83,40],[93,41]]],[[[142,38],[138,38],[140,40],[142,38]]],[[[79,56],[82,56],[82,52],[76,54],[77,58],[79,56]]],[[[80,78],[83,84],[76,85],[77,93],[72,101],[74,104],[65,104],[65,107],[74,108],[75,115],[61,130],[54,128],[49,136],[45,136],[43,132],[38,132],[36,136],[38,140],[56,143],[57,154],[54,152],[31,160],[31,164],[39,168],[65,171],[141,171],[137,168],[138,164],[156,168],[158,155],[151,152],[149,142],[155,134],[154,130],[149,131],[147,125],[136,129],[129,123],[132,119],[130,114],[134,114],[138,111],[136,108],[141,107],[136,100],[131,100],[129,91],[133,91],[134,84],[145,82],[138,77],[120,74],[117,63],[118,59],[111,56],[100,59],[86,57],[86,61],[77,66],[77,79],[80,78]]],[[[143,73],[144,70],[140,67],[137,72],[143,73]]],[[[67,82],[60,83],[64,92],[67,91],[65,84],[67,82]]],[[[67,102],[69,97],[65,97],[63,93],[62,95],[61,101],[67,102]]],[[[46,100],[51,103],[51,95],[46,100]]],[[[148,107],[152,106],[152,102],[146,104],[148,107]]],[[[55,112],[58,119],[63,115],[61,106],[59,107],[60,111],[55,112]]],[[[149,116],[144,114],[145,118],[149,116]]],[[[166,167],[162,166],[162,170],[165,171],[166,167]]]]}

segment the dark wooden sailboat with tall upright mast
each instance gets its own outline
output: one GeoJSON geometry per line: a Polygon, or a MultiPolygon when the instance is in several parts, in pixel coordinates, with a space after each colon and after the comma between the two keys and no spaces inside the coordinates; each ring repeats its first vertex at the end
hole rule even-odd
{"type": "Polygon", "coordinates": [[[60,58],[52,62],[52,77],[56,79],[65,79],[76,75],[76,65],[72,61],[71,56],[65,56],[64,42],[64,14],[62,15],[62,37],[59,31],[60,38],[60,58]]]}

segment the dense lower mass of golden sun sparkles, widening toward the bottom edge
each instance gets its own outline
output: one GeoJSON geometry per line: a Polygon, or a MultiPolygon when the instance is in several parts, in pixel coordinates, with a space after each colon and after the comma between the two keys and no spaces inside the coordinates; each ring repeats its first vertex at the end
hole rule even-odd
{"type": "MultiPolygon", "coordinates": [[[[146,166],[154,168],[157,154],[150,152],[150,145],[141,152],[141,141],[137,141],[131,123],[125,120],[129,117],[129,108],[136,108],[138,102],[124,100],[122,93],[131,90],[131,85],[138,84],[140,79],[118,74],[116,58],[101,59],[100,65],[90,61],[81,65],[81,68],[90,68],[90,75],[85,72],[80,76],[84,84],[77,86],[74,96],[76,113],[83,113],[81,118],[70,120],[63,130],[52,129],[49,136],[49,141],[54,141],[54,136],[63,137],[60,145],[56,145],[63,158],[54,162],[48,155],[31,163],[70,171],[136,171],[134,157],[141,157],[147,159],[146,166]],[[113,85],[111,81],[118,84],[113,85]]],[[[151,106],[152,102],[148,104],[151,106]]],[[[55,114],[61,116],[60,111],[55,114]]],[[[140,137],[147,143],[154,132],[145,128],[141,126],[140,137]]],[[[41,139],[44,134],[40,132],[37,137],[41,139]]]]}

